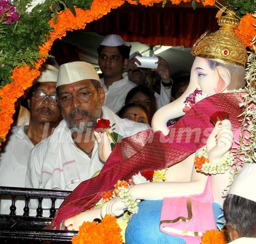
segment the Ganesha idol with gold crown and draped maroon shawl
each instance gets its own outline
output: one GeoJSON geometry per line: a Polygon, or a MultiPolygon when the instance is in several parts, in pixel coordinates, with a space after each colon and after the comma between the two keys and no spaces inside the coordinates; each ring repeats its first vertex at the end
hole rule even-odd
{"type": "Polygon", "coordinates": [[[106,132],[96,135],[105,166],[63,202],[51,228],[78,230],[84,221],[106,214],[120,219],[127,209],[133,214],[126,243],[199,244],[202,233],[217,228],[223,191],[238,163],[232,149],[241,131],[243,93],[237,90],[245,85],[247,61],[245,47],[234,34],[239,21],[233,13],[228,11],[218,23],[217,32],[203,34],[194,44],[190,84],[180,98],[155,113],[154,132],[125,138],[112,152],[106,132]],[[224,116],[214,126],[210,116],[219,112],[229,119],[224,116]],[[166,127],[169,119],[182,115],[166,127]],[[118,180],[133,185],[126,188],[118,180]],[[117,182],[119,193],[94,207],[117,182]]]}

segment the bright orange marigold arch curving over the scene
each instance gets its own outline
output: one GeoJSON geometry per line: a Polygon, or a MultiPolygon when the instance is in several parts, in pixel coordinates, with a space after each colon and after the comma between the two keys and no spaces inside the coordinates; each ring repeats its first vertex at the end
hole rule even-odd
{"type": "MultiPolygon", "coordinates": [[[[39,47],[38,53],[48,54],[54,40],[64,37],[67,31],[85,28],[87,23],[98,20],[110,12],[111,9],[120,7],[125,1],[129,2],[130,4],[140,3],[145,6],[152,6],[154,3],[160,3],[163,0],[94,0],[90,10],[75,8],[76,16],[73,16],[70,10],[66,10],[64,13],[61,13],[58,16],[57,23],[54,23],[53,20],[49,21],[49,24],[54,28],[54,31],[50,34],[51,38],[39,47]]],[[[182,1],[190,2],[191,0],[171,0],[172,4],[180,4],[182,1]]],[[[201,0],[196,1],[202,2],[201,0]]],[[[203,0],[202,3],[203,5],[214,5],[215,0],[203,0]]],[[[250,17],[253,18],[252,16],[250,17]]],[[[245,21],[245,23],[247,23],[247,21],[245,21]]],[[[243,28],[240,30],[240,34],[244,34],[246,28],[247,27],[244,24],[243,28]]],[[[246,36],[244,36],[244,39],[246,39],[247,42],[248,40],[250,42],[253,36],[254,31],[251,33],[246,30],[246,36]]],[[[245,43],[245,40],[243,41],[245,43]]],[[[17,99],[22,96],[24,90],[31,87],[34,79],[40,75],[38,69],[44,61],[45,58],[40,58],[35,64],[34,69],[31,69],[31,67],[27,64],[25,67],[15,67],[11,76],[11,78],[14,80],[0,90],[0,138],[4,139],[4,141],[10,129],[10,125],[13,122],[12,116],[15,112],[14,104],[17,99]]]]}

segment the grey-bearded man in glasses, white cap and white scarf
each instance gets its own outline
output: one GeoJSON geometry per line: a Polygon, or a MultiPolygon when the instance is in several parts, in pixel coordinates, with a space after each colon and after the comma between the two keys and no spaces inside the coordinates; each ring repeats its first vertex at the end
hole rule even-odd
{"type": "Polygon", "coordinates": [[[72,62],[59,67],[57,96],[63,120],[53,135],[31,152],[26,187],[74,190],[103,167],[98,156],[94,126],[98,118],[115,124],[123,137],[148,129],[148,125],[120,119],[103,105],[105,92],[94,67],[72,62]]]}

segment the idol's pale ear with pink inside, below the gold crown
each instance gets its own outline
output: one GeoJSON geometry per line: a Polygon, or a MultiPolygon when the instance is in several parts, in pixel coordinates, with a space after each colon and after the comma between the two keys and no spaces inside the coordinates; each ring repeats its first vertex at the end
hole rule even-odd
{"type": "Polygon", "coordinates": [[[230,84],[229,71],[223,66],[217,66],[215,68],[215,84],[214,90],[216,93],[223,92],[230,84]]]}

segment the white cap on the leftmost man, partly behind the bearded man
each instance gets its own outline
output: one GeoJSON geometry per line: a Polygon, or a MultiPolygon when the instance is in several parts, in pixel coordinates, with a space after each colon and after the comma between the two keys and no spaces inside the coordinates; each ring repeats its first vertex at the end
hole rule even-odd
{"type": "Polygon", "coordinates": [[[52,65],[43,64],[39,69],[40,76],[34,80],[34,84],[37,82],[56,82],[59,70],[52,65]]]}

